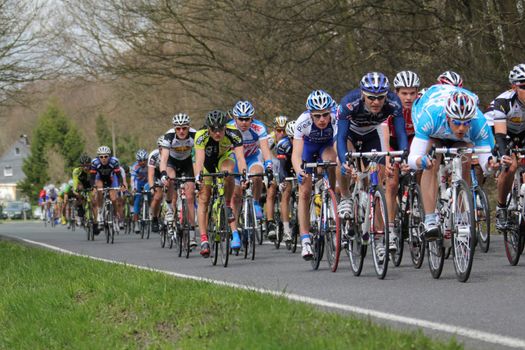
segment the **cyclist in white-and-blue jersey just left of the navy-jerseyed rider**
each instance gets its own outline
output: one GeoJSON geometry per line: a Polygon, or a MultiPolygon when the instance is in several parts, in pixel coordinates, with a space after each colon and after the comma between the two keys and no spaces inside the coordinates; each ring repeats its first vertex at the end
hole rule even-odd
{"type": "MultiPolygon", "coordinates": [[[[313,258],[310,241],[310,198],[312,193],[311,169],[302,169],[303,162],[312,162],[316,158],[336,161],[334,137],[337,133],[334,100],[323,90],[314,90],[306,100],[306,111],[297,119],[294,131],[292,165],[299,183],[297,217],[301,233],[302,257],[313,258]]],[[[335,174],[330,171],[330,183],[335,184],[335,174]]]]}

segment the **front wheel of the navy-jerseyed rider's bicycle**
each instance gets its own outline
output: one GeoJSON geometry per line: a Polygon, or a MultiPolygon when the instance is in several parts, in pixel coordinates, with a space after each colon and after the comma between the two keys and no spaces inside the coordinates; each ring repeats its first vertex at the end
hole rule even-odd
{"type": "MultiPolygon", "coordinates": [[[[373,197],[374,230],[371,232],[370,239],[372,243],[372,257],[377,277],[384,279],[388,271],[388,254],[389,232],[388,232],[388,213],[386,209],[386,199],[383,189],[377,187],[373,197]]],[[[370,225],[372,227],[372,223],[370,225]]]]}

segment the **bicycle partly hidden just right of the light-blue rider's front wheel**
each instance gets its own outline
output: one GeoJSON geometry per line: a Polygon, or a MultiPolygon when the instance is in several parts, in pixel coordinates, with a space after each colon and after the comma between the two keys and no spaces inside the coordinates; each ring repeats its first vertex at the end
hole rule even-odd
{"type": "MultiPolygon", "coordinates": [[[[472,159],[477,159],[476,155],[472,159]]],[[[474,204],[474,222],[476,223],[476,237],[479,247],[483,253],[489,251],[490,247],[490,203],[487,194],[478,183],[475,165],[470,166],[470,178],[472,181],[471,191],[474,204]]]]}

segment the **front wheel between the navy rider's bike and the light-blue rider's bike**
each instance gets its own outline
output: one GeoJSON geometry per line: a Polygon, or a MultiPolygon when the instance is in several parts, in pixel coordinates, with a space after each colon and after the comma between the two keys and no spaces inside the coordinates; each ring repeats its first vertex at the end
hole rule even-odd
{"type": "Polygon", "coordinates": [[[416,269],[421,268],[425,259],[423,197],[419,185],[415,185],[408,196],[408,244],[410,257],[416,269]]]}

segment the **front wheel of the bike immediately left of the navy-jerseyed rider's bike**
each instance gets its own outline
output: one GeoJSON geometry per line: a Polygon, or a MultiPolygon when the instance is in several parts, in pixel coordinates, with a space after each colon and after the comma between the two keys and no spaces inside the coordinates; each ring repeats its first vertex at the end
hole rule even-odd
{"type": "Polygon", "coordinates": [[[326,243],[326,259],[330,270],[336,272],[341,255],[341,222],[337,214],[337,200],[332,189],[327,191],[324,207],[326,210],[321,210],[321,215],[324,216],[326,213],[326,217],[322,217],[321,223],[326,243]]]}

